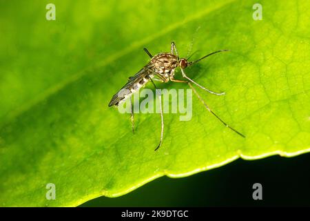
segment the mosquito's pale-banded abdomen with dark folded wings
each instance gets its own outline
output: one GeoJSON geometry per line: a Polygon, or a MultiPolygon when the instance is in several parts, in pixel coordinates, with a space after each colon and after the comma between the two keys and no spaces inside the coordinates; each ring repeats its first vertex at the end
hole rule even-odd
{"type": "Polygon", "coordinates": [[[118,92],[113,95],[109,106],[117,106],[120,102],[127,99],[127,97],[130,97],[134,91],[144,86],[149,81],[149,79],[149,70],[145,68],[139,70],[136,75],[129,78],[127,84],[125,84],[121,90],[118,90],[118,92]]]}

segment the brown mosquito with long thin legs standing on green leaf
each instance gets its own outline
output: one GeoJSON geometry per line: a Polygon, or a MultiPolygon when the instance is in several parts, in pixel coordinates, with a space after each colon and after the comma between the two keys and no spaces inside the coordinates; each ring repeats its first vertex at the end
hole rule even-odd
{"type": "MultiPolygon", "coordinates": [[[[207,111],[209,111],[212,115],[214,115],[217,119],[220,120],[227,128],[231,129],[231,131],[234,131],[241,137],[245,137],[245,135],[242,135],[242,133],[236,131],[236,129],[232,128],[228,124],[226,124],[223,119],[220,119],[216,113],[211,111],[209,106],[205,103],[202,97],[197,93],[196,89],[192,86],[192,84],[195,84],[199,88],[202,88],[203,90],[206,90],[207,92],[213,94],[213,95],[225,95],[225,93],[216,93],[213,92],[204,86],[201,86],[200,84],[196,83],[196,81],[190,79],[185,74],[184,69],[188,66],[192,66],[193,64],[196,64],[197,62],[205,59],[206,57],[209,57],[211,55],[214,55],[218,52],[225,52],[229,50],[217,50],[215,52],[211,52],[208,55],[205,55],[204,57],[201,57],[200,59],[196,61],[188,61],[189,58],[179,58],[178,57],[178,50],[176,50],[176,44],[172,41],[171,44],[171,50],[170,52],[161,52],[158,55],[152,56],[152,54],[147,50],[147,48],[143,48],[147,55],[150,57],[150,61],[147,65],[145,65],[141,70],[136,73],[136,75],[129,77],[127,84],[121,88],[122,91],[127,91],[127,93],[120,93],[121,90],[118,90],[118,93],[113,95],[111,102],[109,106],[118,106],[122,102],[124,102],[126,99],[130,98],[130,104],[131,104],[131,120],[132,120],[132,132],[134,133],[134,111],[133,111],[133,104],[132,104],[132,94],[145,86],[149,81],[152,82],[155,89],[157,89],[156,84],[153,80],[161,81],[167,83],[168,81],[174,81],[178,83],[185,83],[188,84],[192,90],[194,90],[194,94],[198,97],[200,102],[203,103],[207,111]],[[182,76],[184,79],[174,79],[174,71],[176,68],[179,67],[180,71],[182,73],[182,76]]],[[[158,95],[159,102],[161,104],[161,95],[158,95]]],[[[162,104],[160,105],[160,111],[161,111],[161,139],[159,141],[158,146],[155,148],[155,151],[158,150],[159,147],[161,147],[161,144],[163,143],[163,131],[164,131],[164,120],[163,120],[163,107],[162,104]]]]}

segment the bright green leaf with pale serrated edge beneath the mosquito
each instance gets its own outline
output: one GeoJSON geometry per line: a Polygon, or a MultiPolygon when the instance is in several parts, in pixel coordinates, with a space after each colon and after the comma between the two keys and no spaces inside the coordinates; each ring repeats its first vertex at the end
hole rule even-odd
{"type": "MultiPolygon", "coordinates": [[[[0,1],[0,204],[76,206],[116,197],[163,175],[184,177],[242,157],[310,150],[310,6],[307,1],[0,1]],[[187,75],[207,104],[247,137],[225,128],[196,97],[192,120],[130,117],[107,104],[152,54],[193,59],[228,48],[187,75]],[[47,200],[46,184],[56,186],[47,200]]],[[[158,84],[161,88],[187,88],[158,84]]]]}

